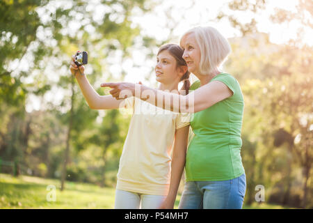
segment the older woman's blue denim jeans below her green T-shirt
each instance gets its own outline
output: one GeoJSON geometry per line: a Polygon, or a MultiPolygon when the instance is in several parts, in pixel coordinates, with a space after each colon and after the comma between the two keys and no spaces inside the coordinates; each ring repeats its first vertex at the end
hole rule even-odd
{"type": "Polygon", "coordinates": [[[241,209],[246,194],[246,174],[232,180],[188,181],[179,209],[241,209]]]}

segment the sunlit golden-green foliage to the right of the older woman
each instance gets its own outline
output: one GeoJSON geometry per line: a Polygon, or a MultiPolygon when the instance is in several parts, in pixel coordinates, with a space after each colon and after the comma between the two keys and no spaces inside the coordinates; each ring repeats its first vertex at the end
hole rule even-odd
{"type": "Polygon", "coordinates": [[[232,40],[225,67],[239,79],[245,98],[241,155],[248,203],[255,186],[264,185],[271,188],[270,202],[303,207],[306,199],[312,206],[312,48],[273,45],[264,34],[252,37],[248,44],[232,40]],[[255,41],[258,48],[251,50],[255,41]]]}

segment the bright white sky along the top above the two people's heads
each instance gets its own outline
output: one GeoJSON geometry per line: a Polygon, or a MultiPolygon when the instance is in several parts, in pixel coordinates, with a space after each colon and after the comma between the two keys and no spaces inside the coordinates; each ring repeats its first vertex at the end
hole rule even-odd
{"type": "MultiPolygon", "coordinates": [[[[175,1],[161,1],[160,6],[157,6],[153,13],[148,13],[144,16],[134,17],[134,23],[143,27],[143,33],[150,34],[155,38],[162,40],[168,35],[168,31],[164,30],[166,26],[175,26],[174,33],[177,36],[182,34],[193,26],[215,26],[227,38],[238,36],[239,32],[233,29],[225,20],[216,23],[214,18],[218,13],[223,11],[227,14],[232,13],[236,15],[241,22],[250,22],[253,17],[258,22],[258,29],[264,33],[270,33],[271,41],[273,43],[285,43],[289,38],[296,37],[296,28],[299,24],[291,24],[289,29],[282,24],[273,24],[269,20],[269,15],[273,14],[275,8],[282,8],[295,12],[298,0],[275,0],[266,1],[266,10],[260,14],[252,14],[248,12],[231,12],[227,8],[227,3],[231,0],[207,1],[207,0],[175,0],[175,1]],[[167,20],[166,11],[170,9],[171,17],[177,24],[169,24],[167,20]]],[[[307,33],[307,40],[309,40],[312,33],[307,33]]]]}

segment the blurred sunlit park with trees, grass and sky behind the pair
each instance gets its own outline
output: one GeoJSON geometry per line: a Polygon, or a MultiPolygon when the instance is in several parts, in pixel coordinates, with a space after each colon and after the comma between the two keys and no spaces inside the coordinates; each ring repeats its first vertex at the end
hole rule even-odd
{"type": "Polygon", "coordinates": [[[90,109],[71,56],[88,51],[100,95],[104,82],[156,87],[159,46],[198,25],[232,45],[223,70],[245,100],[243,208],[313,208],[312,0],[1,0],[0,208],[113,208],[131,116],[90,109]]]}

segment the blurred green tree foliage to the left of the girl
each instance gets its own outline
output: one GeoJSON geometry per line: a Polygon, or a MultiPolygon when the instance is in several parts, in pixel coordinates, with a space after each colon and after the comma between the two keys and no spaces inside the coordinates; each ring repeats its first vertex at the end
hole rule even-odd
{"type": "MultiPolygon", "coordinates": [[[[127,50],[133,45],[134,38],[140,31],[138,27],[131,26],[132,9],[147,11],[149,6],[146,2],[103,1],[98,4],[89,1],[68,1],[68,4],[64,5],[56,1],[1,1],[2,158],[18,159],[24,174],[60,177],[65,141],[70,141],[70,155],[74,156],[69,165],[72,180],[81,180],[74,178],[74,175],[83,173],[83,180],[97,182],[94,177],[85,178],[87,172],[81,171],[83,167],[73,169],[74,164],[81,164],[76,157],[81,151],[90,151],[90,146],[102,151],[98,157],[88,159],[90,163],[95,163],[97,159],[102,160],[108,151],[109,157],[116,156],[121,153],[127,132],[119,132],[119,127],[124,125],[119,124],[117,111],[109,112],[106,117],[110,118],[111,123],[103,123],[104,127],[97,123],[99,113],[86,105],[70,75],[70,56],[77,49],[90,52],[88,66],[93,69],[88,79],[93,84],[99,79],[99,74],[106,71],[107,57],[115,51],[121,51],[123,57],[128,55],[127,50]],[[106,7],[104,17],[100,20],[94,17],[94,10],[98,6],[106,7]],[[79,27],[70,31],[73,22],[79,24],[79,27]],[[21,68],[21,63],[28,63],[28,68],[21,68]],[[57,77],[54,81],[51,81],[52,75],[57,77]],[[29,96],[36,95],[41,101],[45,101],[47,93],[55,94],[56,89],[67,91],[59,105],[54,102],[47,103],[43,106],[47,113],[25,112],[29,96]],[[71,119],[72,125],[69,125],[71,119]],[[66,138],[69,128],[70,137],[66,138]],[[110,136],[101,137],[97,134],[110,136]]],[[[110,78],[109,74],[106,76],[110,78]]],[[[103,165],[105,164],[102,163],[103,165]]],[[[101,169],[101,165],[95,167],[95,170],[98,170],[93,171],[95,176],[103,173],[101,169]]]]}

